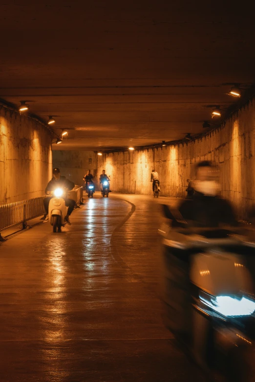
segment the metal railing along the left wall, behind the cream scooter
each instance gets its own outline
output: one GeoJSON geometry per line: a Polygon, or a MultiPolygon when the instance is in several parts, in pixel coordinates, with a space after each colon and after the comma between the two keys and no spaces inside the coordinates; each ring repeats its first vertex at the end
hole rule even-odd
{"type": "MultiPolygon", "coordinates": [[[[48,197],[50,197],[50,195],[0,205],[0,241],[5,240],[1,236],[3,229],[20,223],[22,224],[22,229],[24,229],[27,227],[26,222],[28,220],[43,215],[45,213],[43,199],[48,197]]],[[[69,192],[68,197],[73,199],[76,206],[78,206],[77,204],[81,204],[83,201],[83,187],[75,186],[75,188],[69,192]]]]}

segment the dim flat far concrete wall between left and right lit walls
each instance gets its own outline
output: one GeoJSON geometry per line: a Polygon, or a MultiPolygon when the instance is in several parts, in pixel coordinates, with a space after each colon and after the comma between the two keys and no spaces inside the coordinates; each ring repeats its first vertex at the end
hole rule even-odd
{"type": "Polygon", "coordinates": [[[53,150],[52,156],[53,166],[59,167],[61,174],[75,184],[83,184],[83,177],[87,170],[97,177],[97,155],[94,151],[53,150]],[[91,163],[89,163],[89,159],[91,159],[91,163]]]}

